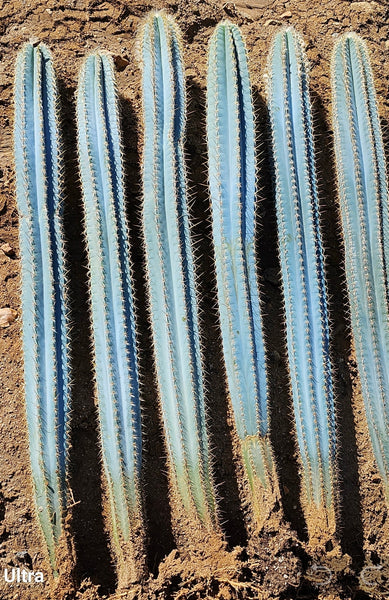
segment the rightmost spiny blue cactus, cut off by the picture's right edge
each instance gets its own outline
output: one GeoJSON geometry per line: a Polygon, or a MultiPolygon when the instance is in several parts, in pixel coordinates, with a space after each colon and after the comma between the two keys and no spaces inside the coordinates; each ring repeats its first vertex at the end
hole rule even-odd
{"type": "Polygon", "coordinates": [[[351,325],[374,455],[389,501],[389,210],[385,158],[366,44],[332,57],[333,127],[351,325]]]}

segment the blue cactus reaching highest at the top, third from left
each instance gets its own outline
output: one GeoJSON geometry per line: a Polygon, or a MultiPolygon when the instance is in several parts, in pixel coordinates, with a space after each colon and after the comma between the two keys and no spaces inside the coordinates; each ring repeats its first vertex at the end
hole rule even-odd
{"type": "Polygon", "coordinates": [[[216,521],[206,433],[191,250],[180,34],[156,13],[140,41],[143,72],[143,227],[157,380],[173,486],[184,511],[216,521]]]}

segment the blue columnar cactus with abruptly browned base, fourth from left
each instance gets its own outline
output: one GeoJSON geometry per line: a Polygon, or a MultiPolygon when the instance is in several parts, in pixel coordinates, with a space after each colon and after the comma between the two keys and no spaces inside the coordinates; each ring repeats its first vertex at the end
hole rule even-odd
{"type": "Polygon", "coordinates": [[[256,273],[254,114],[245,45],[239,28],[228,22],[217,26],[209,45],[207,138],[227,385],[254,513],[262,526],[276,474],[256,273]]]}

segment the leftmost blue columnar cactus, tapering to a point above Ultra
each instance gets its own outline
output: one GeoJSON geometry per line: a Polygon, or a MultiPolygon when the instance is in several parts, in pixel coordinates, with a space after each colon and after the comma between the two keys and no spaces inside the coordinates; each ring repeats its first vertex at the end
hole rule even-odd
{"type": "Polygon", "coordinates": [[[24,385],[36,504],[53,569],[66,511],[70,398],[57,103],[49,50],[26,44],[16,62],[14,130],[24,385]]]}

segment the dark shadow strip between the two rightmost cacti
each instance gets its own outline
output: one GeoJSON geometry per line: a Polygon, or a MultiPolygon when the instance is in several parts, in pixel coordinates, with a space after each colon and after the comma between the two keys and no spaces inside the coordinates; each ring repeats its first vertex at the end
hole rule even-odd
{"type": "Polygon", "coordinates": [[[335,398],[338,429],[338,469],[340,508],[338,532],[342,549],[353,559],[355,568],[363,564],[363,524],[359,492],[358,455],[353,410],[352,385],[347,359],[351,337],[347,318],[344,251],[336,202],[336,170],[331,126],[321,98],[312,93],[316,164],[319,180],[321,225],[326,253],[326,275],[332,329],[332,360],[335,367],[335,398]]]}

